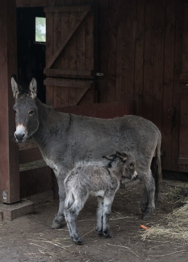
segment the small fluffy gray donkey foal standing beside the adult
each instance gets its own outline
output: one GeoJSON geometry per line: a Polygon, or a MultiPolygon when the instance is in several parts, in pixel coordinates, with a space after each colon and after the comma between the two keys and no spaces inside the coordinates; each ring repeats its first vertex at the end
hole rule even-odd
{"type": "Polygon", "coordinates": [[[110,160],[107,166],[89,163],[80,165],[71,170],[64,180],[66,188],[64,215],[70,237],[77,244],[82,244],[83,239],[79,235],[76,219],[88,196],[94,195],[98,200],[96,226],[98,235],[113,237],[109,228],[109,217],[120,179],[122,175],[130,180],[137,178],[134,156],[116,151],[116,154],[103,158],[110,160]]]}

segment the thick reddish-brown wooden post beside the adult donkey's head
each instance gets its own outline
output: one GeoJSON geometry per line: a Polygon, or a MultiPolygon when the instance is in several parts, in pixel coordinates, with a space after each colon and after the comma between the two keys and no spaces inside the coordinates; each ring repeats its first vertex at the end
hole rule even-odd
{"type": "Polygon", "coordinates": [[[0,201],[20,200],[19,149],[14,139],[15,121],[11,75],[17,73],[16,0],[0,1],[0,201]]]}

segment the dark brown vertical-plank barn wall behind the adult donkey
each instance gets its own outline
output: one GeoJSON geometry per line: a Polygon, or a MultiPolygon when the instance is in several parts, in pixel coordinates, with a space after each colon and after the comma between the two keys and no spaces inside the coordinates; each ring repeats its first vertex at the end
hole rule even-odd
{"type": "MultiPolygon", "coordinates": [[[[184,2],[36,0],[26,4],[17,0],[19,7],[98,5],[95,59],[97,71],[103,76],[96,77],[95,102],[126,102],[133,114],[154,122],[162,132],[163,169],[173,171],[178,171],[179,157],[184,2]]],[[[85,96],[81,104],[88,104],[88,99],[85,96]]],[[[61,103],[65,105],[68,102],[61,103]]]]}

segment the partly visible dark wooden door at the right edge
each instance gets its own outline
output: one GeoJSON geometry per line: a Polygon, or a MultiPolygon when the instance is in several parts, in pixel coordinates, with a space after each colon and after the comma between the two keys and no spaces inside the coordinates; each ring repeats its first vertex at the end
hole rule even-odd
{"type": "Polygon", "coordinates": [[[188,4],[184,6],[178,168],[188,172],[188,4]]]}

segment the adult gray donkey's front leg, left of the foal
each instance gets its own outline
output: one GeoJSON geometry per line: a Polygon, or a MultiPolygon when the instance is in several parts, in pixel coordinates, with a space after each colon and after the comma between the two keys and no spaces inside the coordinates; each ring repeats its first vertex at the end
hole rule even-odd
{"type": "Polygon", "coordinates": [[[66,191],[64,186],[64,178],[65,173],[58,174],[57,170],[53,170],[59,186],[59,210],[58,213],[55,215],[55,218],[53,219],[53,223],[51,228],[52,229],[58,229],[63,225],[63,221],[65,220],[64,217],[64,202],[66,197],[66,191]]]}

